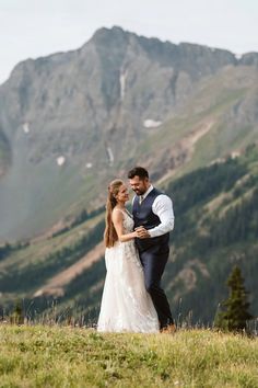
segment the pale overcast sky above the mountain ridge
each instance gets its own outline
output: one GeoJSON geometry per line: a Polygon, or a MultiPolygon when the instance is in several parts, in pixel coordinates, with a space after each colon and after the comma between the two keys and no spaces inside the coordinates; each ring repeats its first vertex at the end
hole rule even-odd
{"type": "Polygon", "coordinates": [[[17,62],[77,49],[114,25],[175,44],[258,52],[258,0],[0,0],[0,83],[17,62]]]}

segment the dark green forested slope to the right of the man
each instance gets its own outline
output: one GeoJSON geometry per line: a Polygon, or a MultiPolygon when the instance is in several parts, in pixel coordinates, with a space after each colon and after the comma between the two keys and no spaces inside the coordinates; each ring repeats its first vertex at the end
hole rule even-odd
{"type": "Polygon", "coordinates": [[[257,316],[257,183],[258,152],[250,147],[239,159],[197,170],[167,186],[176,228],[164,282],[178,315],[190,312],[194,321],[212,323],[237,264],[257,316]]]}

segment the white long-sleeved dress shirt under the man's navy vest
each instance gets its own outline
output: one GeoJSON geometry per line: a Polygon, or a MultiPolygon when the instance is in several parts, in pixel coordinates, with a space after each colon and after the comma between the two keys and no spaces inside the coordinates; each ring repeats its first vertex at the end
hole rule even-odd
{"type": "MultiPolygon", "coordinates": [[[[142,201],[144,201],[152,190],[153,185],[151,184],[148,191],[142,195],[142,201]]],[[[133,197],[132,203],[134,198],[136,196],[133,197]]],[[[148,230],[151,237],[162,236],[174,229],[175,217],[173,212],[173,203],[167,195],[157,195],[152,204],[152,212],[160,218],[161,224],[155,228],[148,230]]]]}

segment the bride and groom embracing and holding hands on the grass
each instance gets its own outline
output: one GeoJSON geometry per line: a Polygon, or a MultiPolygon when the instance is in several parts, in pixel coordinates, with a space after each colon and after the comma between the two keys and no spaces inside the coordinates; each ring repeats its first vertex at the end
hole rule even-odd
{"type": "Polygon", "coordinates": [[[136,193],[132,215],[126,208],[126,184],[115,180],[108,186],[104,235],[107,274],[97,330],[173,333],[176,327],[161,288],[174,228],[173,204],[153,187],[144,168],[136,167],[128,178],[136,193]]]}

